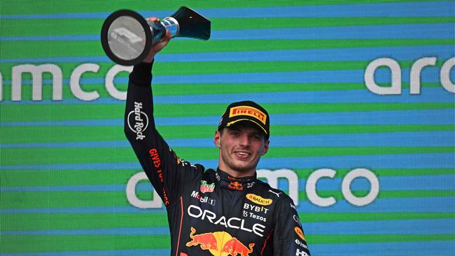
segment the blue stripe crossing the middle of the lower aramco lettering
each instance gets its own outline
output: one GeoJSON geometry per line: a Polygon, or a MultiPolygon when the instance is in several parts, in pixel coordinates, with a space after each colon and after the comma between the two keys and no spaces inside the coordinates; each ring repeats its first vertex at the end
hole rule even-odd
{"type": "MultiPolygon", "coordinates": [[[[373,170],[374,171],[374,170],[373,170]]],[[[261,178],[261,176],[259,176],[261,178]]],[[[379,185],[381,191],[415,191],[415,190],[454,190],[455,176],[454,175],[434,175],[434,176],[379,176],[379,185]]],[[[267,181],[267,180],[265,180],[267,181]]],[[[300,191],[305,191],[307,179],[300,178],[298,185],[300,191]]],[[[321,178],[318,180],[316,189],[320,190],[339,190],[342,185],[342,178],[321,178]]],[[[279,180],[279,190],[289,190],[287,180],[279,180]]],[[[99,191],[125,191],[126,185],[69,185],[69,186],[43,186],[43,187],[7,187],[4,184],[0,187],[3,192],[62,192],[62,191],[78,191],[78,192],[99,192],[99,191]]],[[[137,191],[152,191],[151,183],[144,180],[136,187],[137,191]]],[[[370,183],[365,178],[356,178],[351,183],[351,190],[370,190],[370,183]]]]}

